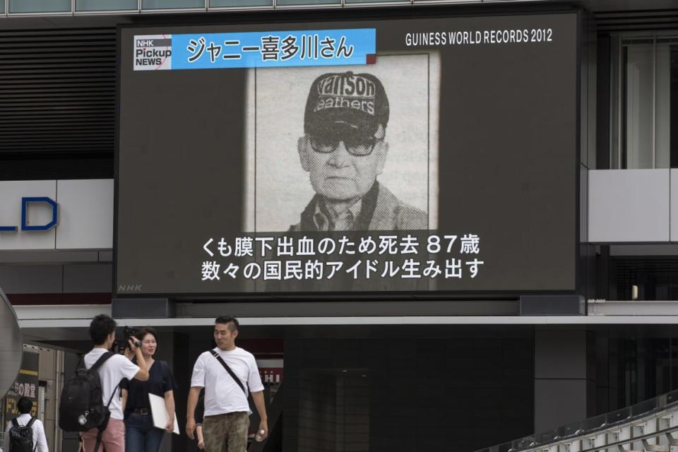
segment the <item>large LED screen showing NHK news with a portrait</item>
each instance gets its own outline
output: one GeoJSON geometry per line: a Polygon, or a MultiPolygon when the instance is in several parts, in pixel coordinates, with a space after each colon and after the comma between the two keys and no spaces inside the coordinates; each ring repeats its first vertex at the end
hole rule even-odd
{"type": "Polygon", "coordinates": [[[121,28],[117,295],[574,290],[577,24],[121,28]]]}

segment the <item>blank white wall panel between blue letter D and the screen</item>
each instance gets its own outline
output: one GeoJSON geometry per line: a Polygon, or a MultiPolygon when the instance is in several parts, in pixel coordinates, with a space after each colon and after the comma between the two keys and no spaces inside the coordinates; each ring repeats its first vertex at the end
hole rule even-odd
{"type": "Polygon", "coordinates": [[[57,249],[113,247],[113,179],[57,182],[57,249]]]}

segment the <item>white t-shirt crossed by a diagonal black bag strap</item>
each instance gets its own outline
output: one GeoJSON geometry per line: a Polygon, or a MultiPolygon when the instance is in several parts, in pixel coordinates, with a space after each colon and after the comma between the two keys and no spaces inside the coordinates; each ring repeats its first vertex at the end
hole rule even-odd
{"type": "MultiPolygon", "coordinates": [[[[239,347],[230,351],[220,350],[218,347],[214,350],[237,375],[245,391],[248,388],[253,393],[263,391],[254,355],[239,347]]],[[[191,376],[191,388],[196,387],[205,388],[206,416],[238,411],[251,413],[247,396],[211,352],[204,352],[196,360],[191,376]]]]}

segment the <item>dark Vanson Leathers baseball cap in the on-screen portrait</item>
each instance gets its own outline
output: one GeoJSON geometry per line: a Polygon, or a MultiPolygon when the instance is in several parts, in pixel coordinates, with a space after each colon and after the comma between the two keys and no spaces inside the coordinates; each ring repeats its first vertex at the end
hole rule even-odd
{"type": "Polygon", "coordinates": [[[326,135],[347,131],[371,136],[388,123],[388,97],[371,73],[326,73],[311,85],[304,132],[326,135]]]}

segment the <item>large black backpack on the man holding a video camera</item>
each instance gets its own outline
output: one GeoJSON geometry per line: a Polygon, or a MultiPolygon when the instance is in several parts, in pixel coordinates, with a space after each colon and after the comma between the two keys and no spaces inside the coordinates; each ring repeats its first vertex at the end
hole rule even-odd
{"type": "MultiPolygon", "coordinates": [[[[97,446],[101,434],[106,429],[111,412],[108,406],[115,395],[115,388],[104,405],[102,400],[101,379],[97,369],[114,353],[104,353],[89,369],[85,368],[84,357],[81,359],[76,373],[66,382],[61,391],[59,402],[59,427],[66,432],[86,432],[90,429],[99,429],[97,446]]],[[[117,386],[116,386],[117,388],[117,386]]]]}

